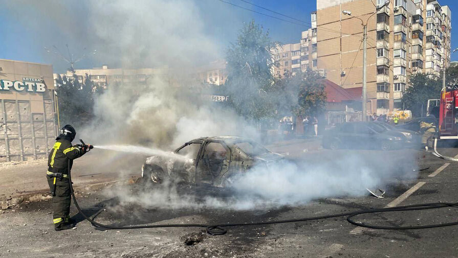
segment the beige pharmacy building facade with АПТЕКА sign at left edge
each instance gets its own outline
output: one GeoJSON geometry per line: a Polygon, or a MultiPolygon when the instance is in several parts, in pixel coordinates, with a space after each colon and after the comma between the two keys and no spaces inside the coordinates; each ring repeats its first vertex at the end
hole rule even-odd
{"type": "Polygon", "coordinates": [[[52,65],[0,59],[0,161],[46,158],[57,135],[52,65]]]}

